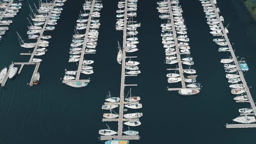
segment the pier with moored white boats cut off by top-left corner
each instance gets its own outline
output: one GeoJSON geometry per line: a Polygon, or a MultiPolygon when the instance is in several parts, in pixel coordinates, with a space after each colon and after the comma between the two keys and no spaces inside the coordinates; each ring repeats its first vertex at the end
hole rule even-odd
{"type": "Polygon", "coordinates": [[[18,0],[19,3],[13,3],[13,1],[14,0],[3,0],[2,3],[0,2],[0,40],[2,35],[9,29],[8,26],[13,23],[11,18],[16,16],[21,9],[21,0],[18,0]]]}

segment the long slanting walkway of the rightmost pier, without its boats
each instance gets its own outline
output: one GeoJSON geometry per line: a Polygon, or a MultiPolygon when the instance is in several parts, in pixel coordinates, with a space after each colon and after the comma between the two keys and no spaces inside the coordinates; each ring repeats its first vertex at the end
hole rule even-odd
{"type": "MultiPolygon", "coordinates": [[[[245,80],[245,78],[244,78],[244,76],[243,76],[243,72],[242,72],[241,69],[240,69],[240,65],[239,65],[239,63],[238,63],[238,61],[237,61],[237,59],[236,59],[235,52],[234,52],[234,50],[233,50],[233,48],[232,48],[232,46],[231,46],[230,40],[229,40],[229,38],[228,38],[228,36],[227,36],[225,27],[223,26],[223,23],[222,23],[222,21],[221,21],[221,19],[220,19],[220,15],[219,15],[219,13],[218,13],[218,11],[217,11],[217,8],[216,8],[215,4],[213,3],[213,0],[210,0],[210,1],[211,1],[212,5],[213,5],[213,9],[214,9],[214,11],[215,11],[215,13],[216,13],[217,19],[218,19],[219,22],[220,22],[220,26],[221,26],[223,35],[224,35],[224,37],[225,37],[225,39],[226,39],[226,42],[227,42],[228,47],[229,47],[229,49],[230,49],[230,53],[231,53],[231,55],[232,55],[232,57],[233,57],[233,59],[234,59],[234,62],[235,62],[235,64],[236,64],[236,68],[238,69],[238,73],[239,73],[240,78],[241,78],[241,80],[242,80],[242,82],[243,82],[243,86],[244,86],[244,89],[245,89],[245,91],[246,91],[246,94],[247,94],[248,97],[249,97],[250,104],[251,104],[252,108],[254,109],[254,111],[253,111],[253,112],[254,112],[254,115],[256,116],[256,110],[255,110],[256,107],[255,107],[255,103],[254,103],[253,98],[252,98],[252,95],[251,95],[251,93],[250,93],[250,91],[249,91],[249,88],[248,88],[248,85],[247,85],[247,83],[246,83],[246,80],[245,80]]],[[[240,125],[243,125],[243,124],[240,124],[240,125]]]]}

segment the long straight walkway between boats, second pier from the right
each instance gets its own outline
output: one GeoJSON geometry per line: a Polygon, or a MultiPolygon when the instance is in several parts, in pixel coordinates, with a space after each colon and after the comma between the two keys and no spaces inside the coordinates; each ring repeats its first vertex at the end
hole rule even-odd
{"type": "Polygon", "coordinates": [[[185,84],[185,79],[184,79],[184,72],[183,72],[183,67],[182,67],[182,61],[181,61],[181,55],[180,55],[180,49],[179,49],[179,44],[178,44],[178,39],[177,39],[177,33],[176,33],[176,29],[175,29],[175,25],[174,25],[174,16],[172,13],[172,9],[171,9],[171,0],[168,0],[168,7],[169,7],[169,13],[171,16],[171,26],[172,26],[172,30],[173,30],[173,37],[174,37],[174,42],[175,42],[175,48],[176,48],[176,52],[177,52],[177,61],[178,61],[178,69],[181,75],[181,85],[182,88],[186,88],[186,84],[185,84]]]}

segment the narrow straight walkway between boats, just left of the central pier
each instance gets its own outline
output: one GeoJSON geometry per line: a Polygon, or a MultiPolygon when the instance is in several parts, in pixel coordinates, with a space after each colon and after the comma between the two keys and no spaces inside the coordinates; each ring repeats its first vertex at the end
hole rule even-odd
{"type": "Polygon", "coordinates": [[[85,48],[87,45],[87,39],[88,39],[89,30],[90,30],[90,24],[91,24],[91,20],[92,20],[92,13],[93,13],[93,8],[95,5],[95,2],[96,2],[96,0],[92,0],[92,6],[91,6],[91,10],[89,13],[89,18],[88,18],[88,22],[87,22],[87,26],[86,26],[86,30],[85,30],[85,38],[84,38],[84,42],[83,42],[81,57],[80,57],[80,61],[79,61],[79,65],[78,65],[78,69],[77,69],[77,73],[76,73],[76,77],[75,77],[76,82],[78,82],[80,79],[82,64],[83,64],[84,56],[85,56],[85,48]]]}

